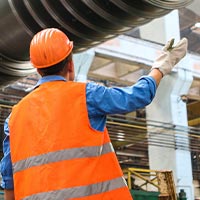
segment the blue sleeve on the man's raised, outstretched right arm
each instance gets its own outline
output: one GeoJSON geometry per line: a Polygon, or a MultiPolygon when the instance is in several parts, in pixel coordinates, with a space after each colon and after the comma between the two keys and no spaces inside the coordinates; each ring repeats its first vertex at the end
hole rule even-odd
{"type": "Polygon", "coordinates": [[[122,114],[147,106],[156,93],[156,82],[150,76],[141,77],[129,87],[107,88],[88,83],[86,88],[88,115],[122,114]]]}

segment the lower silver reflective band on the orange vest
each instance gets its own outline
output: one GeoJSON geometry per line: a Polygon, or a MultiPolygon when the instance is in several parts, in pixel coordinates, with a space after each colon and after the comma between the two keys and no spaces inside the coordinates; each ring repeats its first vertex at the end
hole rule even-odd
{"type": "Polygon", "coordinates": [[[72,198],[86,197],[118,188],[126,187],[123,177],[104,181],[96,184],[77,186],[62,190],[42,192],[23,198],[22,200],[68,200],[72,198]]]}

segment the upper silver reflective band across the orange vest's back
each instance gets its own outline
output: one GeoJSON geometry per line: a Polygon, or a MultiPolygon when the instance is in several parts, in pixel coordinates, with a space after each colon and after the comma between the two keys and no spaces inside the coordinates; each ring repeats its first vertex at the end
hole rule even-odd
{"type": "Polygon", "coordinates": [[[32,156],[30,158],[13,163],[13,172],[16,173],[30,167],[40,166],[52,162],[101,156],[110,152],[113,152],[113,147],[110,142],[104,144],[103,146],[71,148],[50,152],[39,156],[32,156]]]}

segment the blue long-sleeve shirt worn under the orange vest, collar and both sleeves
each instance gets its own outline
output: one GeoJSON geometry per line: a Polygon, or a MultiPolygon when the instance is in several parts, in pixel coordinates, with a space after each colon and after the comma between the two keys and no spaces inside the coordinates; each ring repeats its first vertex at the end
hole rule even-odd
{"type": "MultiPolygon", "coordinates": [[[[36,87],[45,82],[55,80],[66,81],[62,76],[46,76],[38,81],[36,87]]],[[[143,108],[153,100],[155,93],[156,82],[150,76],[143,76],[133,86],[123,88],[107,88],[94,82],[89,82],[86,86],[86,101],[90,124],[94,129],[103,131],[107,114],[128,113],[143,108]]],[[[13,189],[8,121],[9,117],[4,124],[6,137],[3,142],[4,157],[0,165],[1,186],[5,189],[13,189]]]]}

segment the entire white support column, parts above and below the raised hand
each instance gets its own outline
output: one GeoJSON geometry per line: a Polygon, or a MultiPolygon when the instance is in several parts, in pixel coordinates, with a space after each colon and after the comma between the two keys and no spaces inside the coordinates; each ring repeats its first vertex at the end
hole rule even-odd
{"type": "MultiPolygon", "coordinates": [[[[166,43],[172,37],[177,40],[180,38],[178,11],[173,11],[159,19],[158,24],[154,21],[147,26],[148,29],[144,27],[141,29],[141,35],[145,39],[149,37],[151,41],[166,43]],[[151,34],[148,35],[148,33],[151,34]]],[[[183,59],[177,67],[178,70],[174,70],[171,75],[164,77],[161,81],[154,101],[146,109],[147,120],[171,123],[174,126],[188,126],[186,104],[181,100],[181,96],[188,93],[192,84],[192,74],[187,70],[190,67],[189,58],[183,59]]],[[[149,126],[150,139],[155,137],[151,134],[153,131],[155,132],[149,126]]],[[[159,129],[156,131],[158,133],[159,129]]],[[[162,140],[162,130],[156,137],[162,140]]],[[[172,170],[177,193],[180,189],[184,189],[187,199],[194,200],[191,154],[187,137],[186,133],[184,135],[185,148],[182,148],[184,150],[178,146],[183,142],[183,135],[176,132],[170,138],[177,145],[176,148],[149,145],[149,164],[151,169],[172,170]]]]}

